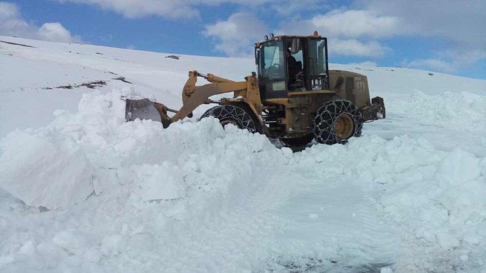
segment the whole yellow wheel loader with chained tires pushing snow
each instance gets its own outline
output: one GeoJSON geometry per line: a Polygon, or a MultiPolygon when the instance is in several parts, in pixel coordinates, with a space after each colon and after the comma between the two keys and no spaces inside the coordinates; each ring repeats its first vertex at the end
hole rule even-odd
{"type": "Polygon", "coordinates": [[[258,74],[233,81],[212,74],[189,72],[182,90],[183,106],[176,111],[149,99],[126,100],[127,121],[152,119],[167,128],[192,117],[201,104],[217,104],[201,118],[213,116],[250,132],[278,138],[290,146],[319,143],[344,144],[359,137],[363,123],[385,118],[381,97],[370,100],[366,76],[329,70],[327,38],[310,36],[265,36],[255,44],[258,74]],[[201,77],[210,83],[196,86],[201,77]],[[210,97],[233,92],[218,101],[210,97]],[[174,112],[169,117],[168,112],[174,112]]]}

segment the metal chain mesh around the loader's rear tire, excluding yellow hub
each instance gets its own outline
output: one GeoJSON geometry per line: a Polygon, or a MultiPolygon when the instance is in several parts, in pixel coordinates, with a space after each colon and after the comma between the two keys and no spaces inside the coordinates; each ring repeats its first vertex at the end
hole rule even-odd
{"type": "Polygon", "coordinates": [[[338,116],[342,113],[347,113],[351,116],[354,123],[354,132],[352,136],[361,136],[361,130],[363,129],[362,115],[358,111],[358,108],[348,100],[335,99],[324,104],[317,111],[314,118],[314,135],[315,139],[319,143],[336,144],[347,143],[347,139],[340,139],[336,135],[334,128],[334,122],[338,116]]]}

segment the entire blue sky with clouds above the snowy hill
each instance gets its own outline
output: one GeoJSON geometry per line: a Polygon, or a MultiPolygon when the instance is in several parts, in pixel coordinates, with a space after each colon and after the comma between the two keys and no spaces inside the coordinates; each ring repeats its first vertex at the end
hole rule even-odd
{"type": "Polygon", "coordinates": [[[485,0],[0,0],[0,35],[174,54],[252,57],[314,30],[331,63],[486,79],[485,0]]]}

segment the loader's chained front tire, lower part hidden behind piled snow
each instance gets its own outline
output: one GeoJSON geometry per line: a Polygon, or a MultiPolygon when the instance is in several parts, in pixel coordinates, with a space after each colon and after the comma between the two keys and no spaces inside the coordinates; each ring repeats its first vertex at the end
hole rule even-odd
{"type": "Polygon", "coordinates": [[[260,124],[255,118],[242,107],[236,105],[225,104],[215,106],[204,112],[201,118],[208,116],[219,119],[223,127],[226,124],[233,124],[240,129],[247,129],[250,133],[260,132],[260,124]]]}

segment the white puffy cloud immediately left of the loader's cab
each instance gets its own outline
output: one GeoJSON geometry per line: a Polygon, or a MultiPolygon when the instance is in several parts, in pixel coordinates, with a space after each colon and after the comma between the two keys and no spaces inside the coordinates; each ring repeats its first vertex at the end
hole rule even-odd
{"type": "Polygon", "coordinates": [[[203,35],[215,39],[215,49],[230,57],[253,56],[253,44],[268,33],[268,27],[251,13],[235,13],[226,21],[206,25],[203,35]]]}

